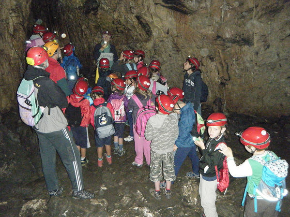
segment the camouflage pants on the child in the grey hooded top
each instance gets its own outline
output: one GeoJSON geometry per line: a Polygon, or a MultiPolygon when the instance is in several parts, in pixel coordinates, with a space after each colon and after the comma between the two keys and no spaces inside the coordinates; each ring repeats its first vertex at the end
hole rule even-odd
{"type": "Polygon", "coordinates": [[[157,154],[151,149],[150,162],[150,180],[153,182],[162,180],[162,165],[163,176],[165,180],[174,181],[174,156],[173,151],[165,154],[157,154]]]}

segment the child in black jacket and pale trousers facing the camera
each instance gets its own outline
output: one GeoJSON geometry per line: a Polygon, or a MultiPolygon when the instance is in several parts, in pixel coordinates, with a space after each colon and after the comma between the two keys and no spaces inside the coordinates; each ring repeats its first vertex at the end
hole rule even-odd
{"type": "Polygon", "coordinates": [[[207,127],[210,138],[203,143],[201,137],[195,140],[195,144],[201,149],[199,159],[199,196],[203,208],[202,217],[218,217],[215,207],[217,188],[215,165],[217,170],[223,168],[225,155],[218,151],[217,145],[226,144],[224,132],[226,131],[227,117],[222,113],[213,113],[207,118],[207,127]]]}

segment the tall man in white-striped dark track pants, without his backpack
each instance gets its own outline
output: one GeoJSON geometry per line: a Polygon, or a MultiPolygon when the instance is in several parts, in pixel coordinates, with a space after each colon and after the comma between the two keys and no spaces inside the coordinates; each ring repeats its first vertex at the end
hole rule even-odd
{"type": "Polygon", "coordinates": [[[90,199],[94,194],[84,190],[79,152],[61,111],[68,103],[64,92],[49,79],[49,73],[45,71],[48,66],[47,58],[47,52],[43,48],[30,48],[26,58],[29,65],[24,73],[25,80],[33,80],[36,101],[44,107],[43,116],[33,129],[39,140],[46,188],[50,196],[59,196],[63,191],[55,168],[58,152],[73,186],[72,197],[90,199]]]}

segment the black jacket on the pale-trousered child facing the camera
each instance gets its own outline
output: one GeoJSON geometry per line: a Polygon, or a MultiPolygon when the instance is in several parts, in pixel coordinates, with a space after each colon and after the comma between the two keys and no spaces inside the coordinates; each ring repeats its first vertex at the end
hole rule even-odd
{"type": "Polygon", "coordinates": [[[215,147],[219,143],[225,143],[224,135],[217,139],[209,138],[206,143],[206,148],[201,151],[201,158],[199,159],[199,173],[202,176],[214,177],[216,176],[214,166],[217,165],[217,170],[223,167],[224,154],[218,150],[214,151],[215,147]]]}

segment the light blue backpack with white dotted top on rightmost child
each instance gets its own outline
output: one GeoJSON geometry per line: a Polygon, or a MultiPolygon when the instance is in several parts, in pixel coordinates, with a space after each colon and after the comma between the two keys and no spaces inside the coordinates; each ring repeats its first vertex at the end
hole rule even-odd
{"type": "MultiPolygon", "coordinates": [[[[286,189],[286,176],[288,174],[288,163],[286,160],[277,158],[272,151],[266,151],[270,156],[268,161],[264,159],[252,156],[250,159],[258,161],[263,165],[261,180],[258,185],[254,182],[254,207],[255,212],[257,212],[257,197],[256,194],[261,196],[264,200],[277,202],[275,210],[281,211],[281,200],[288,193],[286,189]]],[[[252,180],[251,178],[249,180],[252,180]]],[[[242,206],[244,206],[244,201],[246,197],[246,192],[248,188],[248,183],[244,191],[244,198],[242,201],[242,206]]]]}

